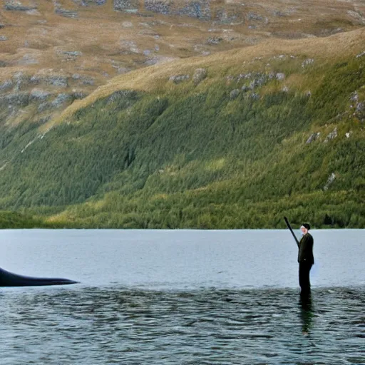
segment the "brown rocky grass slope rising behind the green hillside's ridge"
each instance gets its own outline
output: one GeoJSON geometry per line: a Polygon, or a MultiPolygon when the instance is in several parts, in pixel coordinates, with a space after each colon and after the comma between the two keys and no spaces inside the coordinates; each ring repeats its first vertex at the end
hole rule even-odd
{"type": "MultiPolygon", "coordinates": [[[[32,91],[50,93],[50,103],[60,94],[70,96],[54,108],[40,109],[34,100],[23,106],[14,107],[13,103],[10,109],[0,105],[0,125],[11,128],[24,120],[39,124],[58,118],[75,98],[87,96],[115,76],[154,64],[191,57],[198,57],[191,61],[194,64],[205,63],[205,56],[220,53],[217,57],[221,58],[222,52],[230,56],[233,53],[229,51],[235,48],[262,44],[259,48],[271,49],[284,39],[327,37],[365,24],[365,4],[357,0],[214,0],[209,3],[210,19],[159,14],[149,11],[143,0],[138,2],[137,14],[130,14],[128,9],[115,11],[116,3],[0,2],[0,99],[32,91]],[[65,82],[54,85],[44,81],[52,77],[65,82]],[[34,78],[38,81],[32,82],[34,78]],[[6,86],[10,81],[11,86],[6,86]]],[[[174,6],[181,8],[188,3],[175,1],[174,6]]],[[[285,47],[287,43],[282,44],[285,47]]],[[[258,54],[259,48],[252,48],[257,49],[253,52],[258,54]]],[[[250,54],[252,51],[247,50],[250,54]]],[[[189,63],[174,63],[166,70],[189,63]]],[[[158,72],[155,70],[146,72],[154,74],[158,72]]],[[[136,75],[125,80],[140,77],[140,82],[133,81],[138,87],[145,83],[145,74],[136,75]]],[[[8,103],[6,100],[3,104],[8,103]]]]}

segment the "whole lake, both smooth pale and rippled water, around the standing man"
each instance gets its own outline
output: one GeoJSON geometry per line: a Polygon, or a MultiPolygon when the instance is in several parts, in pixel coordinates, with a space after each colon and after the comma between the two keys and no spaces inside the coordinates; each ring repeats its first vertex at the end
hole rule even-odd
{"type": "Polygon", "coordinates": [[[0,364],[365,364],[364,230],[2,230],[0,364]],[[297,231],[299,236],[299,231],[297,231]]]}

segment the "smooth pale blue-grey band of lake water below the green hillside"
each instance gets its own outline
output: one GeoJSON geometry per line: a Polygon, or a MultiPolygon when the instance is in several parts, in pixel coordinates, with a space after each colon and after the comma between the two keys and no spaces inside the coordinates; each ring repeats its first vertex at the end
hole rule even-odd
{"type": "MultiPolygon", "coordinates": [[[[314,287],[365,284],[363,230],[313,230],[314,287]]],[[[84,285],[147,289],[297,287],[288,230],[6,230],[0,267],[84,285]]]]}

